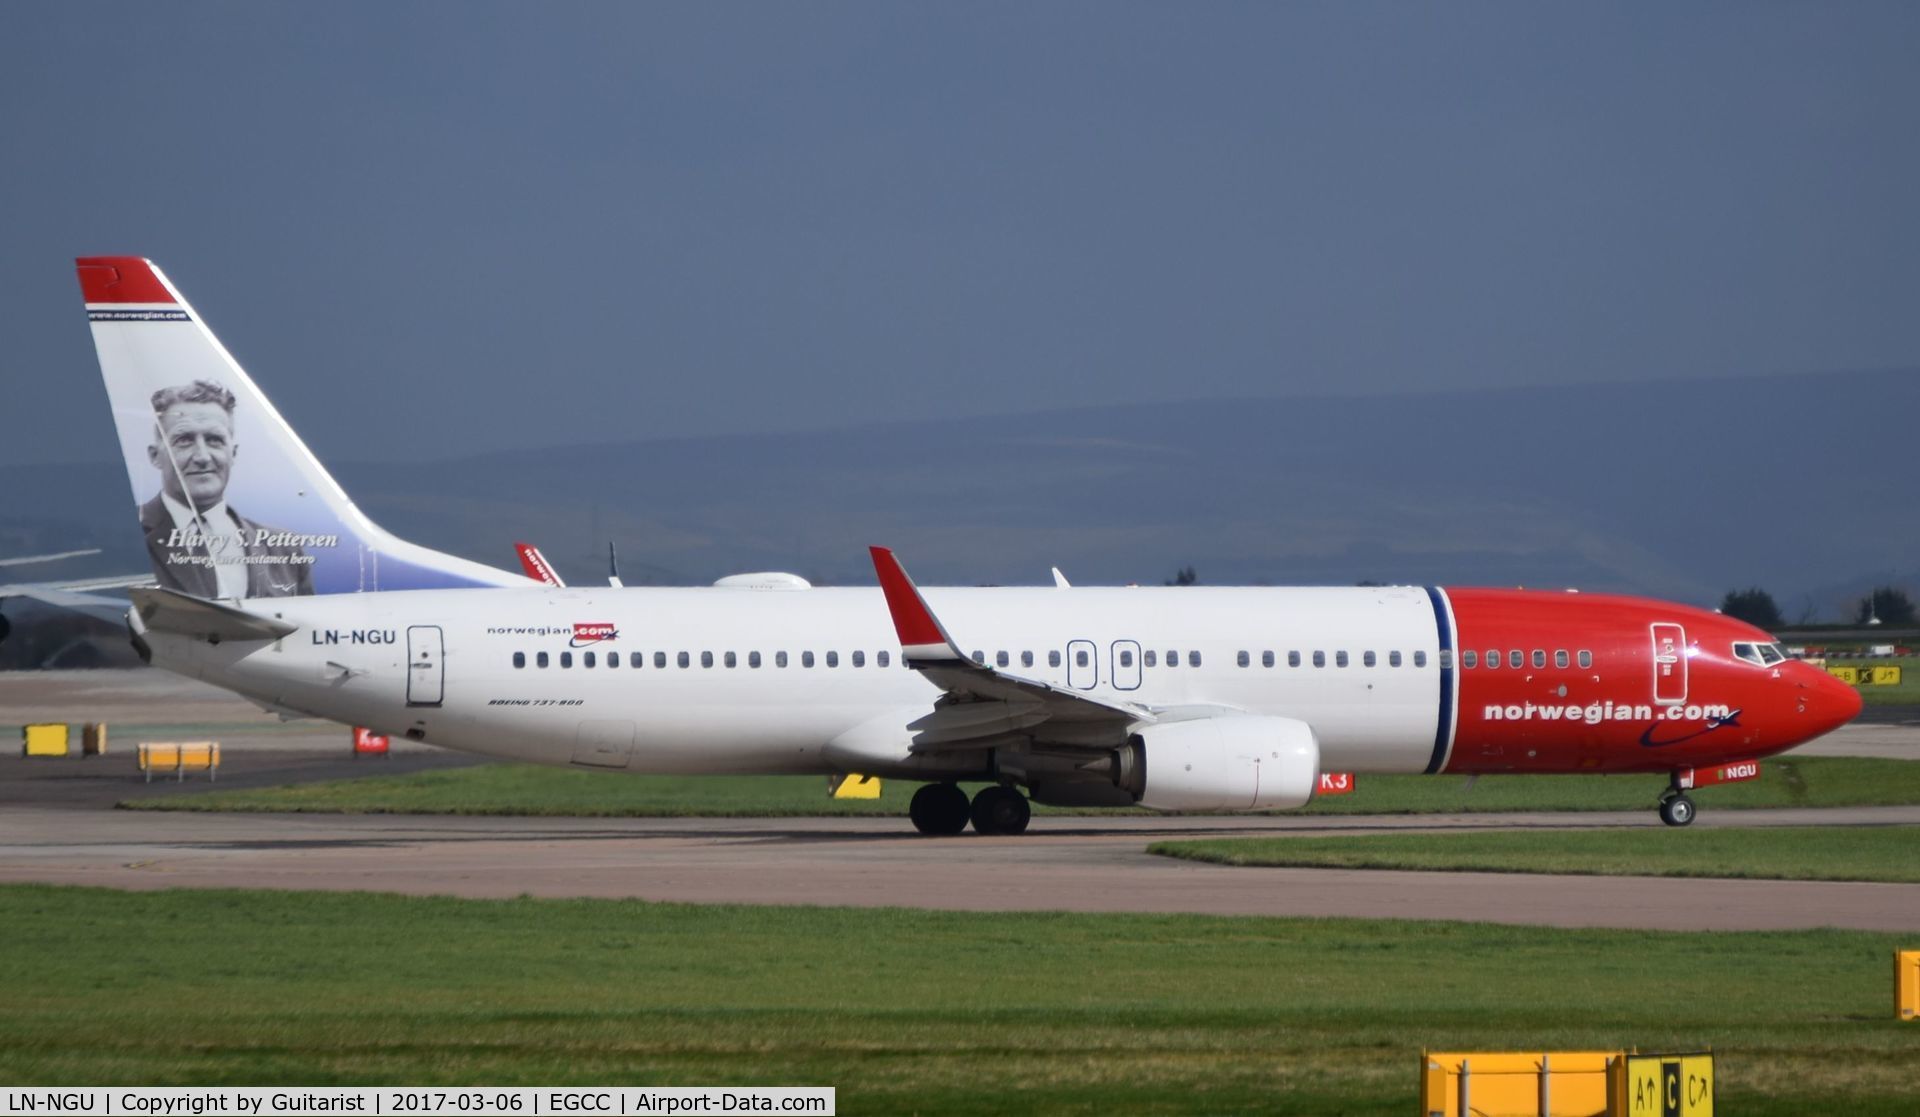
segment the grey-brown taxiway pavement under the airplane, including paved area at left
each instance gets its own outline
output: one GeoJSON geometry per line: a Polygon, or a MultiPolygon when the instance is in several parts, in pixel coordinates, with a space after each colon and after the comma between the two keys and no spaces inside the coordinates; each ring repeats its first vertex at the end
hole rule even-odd
{"type": "MultiPolygon", "coordinates": [[[[334,779],[474,760],[401,745],[351,760],[346,729],[280,724],[163,672],[0,676],[10,722],[100,720],[109,741],[223,741],[221,787],[334,779]]],[[[1857,725],[1805,754],[1920,758],[1920,727],[1857,725]]],[[[1626,814],[1311,818],[1037,818],[1021,837],[925,839],[899,818],[555,820],[127,812],[129,754],[0,758],[0,881],[115,889],[323,889],[457,896],[632,896],[680,902],[947,910],[1194,912],[1480,919],[1555,927],[1920,931],[1920,885],[1248,869],[1146,854],[1160,839],[1647,825],[1626,814]]],[[[1920,808],[1703,812],[1722,825],[1914,825],[1920,808]]]]}

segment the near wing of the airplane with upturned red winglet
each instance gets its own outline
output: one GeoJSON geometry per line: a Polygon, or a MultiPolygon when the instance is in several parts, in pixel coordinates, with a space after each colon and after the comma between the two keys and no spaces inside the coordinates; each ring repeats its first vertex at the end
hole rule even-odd
{"type": "Polygon", "coordinates": [[[1156,710],[1139,702],[1096,699],[968,658],[927,608],[920,587],[893,551],[868,551],[906,666],[945,691],[931,714],[908,724],[914,729],[914,752],[993,749],[1016,739],[1112,749],[1127,741],[1131,727],[1158,720],[1156,710]]]}

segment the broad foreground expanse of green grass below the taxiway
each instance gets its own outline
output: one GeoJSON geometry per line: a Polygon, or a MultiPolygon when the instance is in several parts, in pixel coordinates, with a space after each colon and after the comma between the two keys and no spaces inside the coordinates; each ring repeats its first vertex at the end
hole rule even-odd
{"type": "Polygon", "coordinates": [[[1407,1113],[1434,1050],[1718,1054],[1908,1115],[1891,935],[0,889],[10,1084],[831,1084],[843,1113],[1407,1113]]]}

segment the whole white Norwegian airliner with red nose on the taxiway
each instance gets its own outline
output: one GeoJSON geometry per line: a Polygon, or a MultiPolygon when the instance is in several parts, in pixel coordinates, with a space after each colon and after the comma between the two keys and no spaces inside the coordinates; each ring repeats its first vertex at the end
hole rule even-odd
{"type": "Polygon", "coordinates": [[[1684,825],[1693,770],[1860,710],[1753,626],[1597,593],[920,589],[879,547],[877,589],[543,585],[367,520],[150,261],[79,274],[157,582],[134,647],[290,714],[609,772],[914,779],[945,835],[1020,833],[1029,795],[1296,808],[1323,772],[1665,772],[1684,825]]]}

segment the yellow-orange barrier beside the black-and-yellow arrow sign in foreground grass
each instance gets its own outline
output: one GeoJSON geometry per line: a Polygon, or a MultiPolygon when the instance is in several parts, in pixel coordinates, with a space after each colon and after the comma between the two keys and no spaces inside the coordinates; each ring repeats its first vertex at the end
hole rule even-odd
{"type": "Polygon", "coordinates": [[[1423,1117],[1605,1117],[1626,1052],[1427,1052],[1423,1117]]]}

